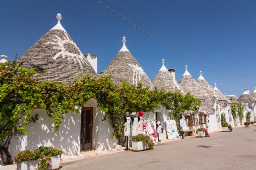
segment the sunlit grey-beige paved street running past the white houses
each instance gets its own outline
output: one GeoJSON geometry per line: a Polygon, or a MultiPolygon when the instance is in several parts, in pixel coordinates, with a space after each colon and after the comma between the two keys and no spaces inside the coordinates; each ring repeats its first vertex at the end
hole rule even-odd
{"type": "Polygon", "coordinates": [[[186,137],[154,150],[122,151],[61,164],[60,170],[256,170],[256,126],[186,137]],[[203,147],[200,147],[203,146],[203,147]]]}

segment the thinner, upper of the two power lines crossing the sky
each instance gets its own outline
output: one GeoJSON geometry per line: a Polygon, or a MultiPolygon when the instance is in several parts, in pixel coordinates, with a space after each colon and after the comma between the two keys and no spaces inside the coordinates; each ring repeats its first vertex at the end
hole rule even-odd
{"type": "Polygon", "coordinates": [[[249,77],[249,76],[247,76],[247,75],[243,75],[243,74],[241,74],[241,73],[239,73],[239,72],[237,72],[237,71],[231,70],[231,69],[229,69],[228,67],[226,67],[226,66],[224,66],[224,65],[221,65],[221,64],[219,64],[219,63],[217,63],[217,62],[215,62],[215,61],[209,59],[207,56],[205,56],[205,55],[203,55],[203,54],[197,52],[196,50],[193,50],[193,49],[190,48],[189,46],[187,46],[187,45],[181,43],[179,40],[177,40],[177,39],[175,39],[174,37],[172,37],[171,35],[167,34],[165,31],[160,30],[159,28],[157,28],[155,25],[151,24],[151,23],[148,22],[147,20],[144,20],[142,17],[140,17],[139,15],[135,14],[133,11],[129,10],[128,8],[126,8],[125,6],[123,6],[122,4],[120,4],[119,2],[117,2],[116,0],[113,0],[113,1],[114,1],[115,3],[117,3],[118,5],[122,6],[124,9],[128,10],[129,12],[131,12],[133,15],[137,16],[139,19],[143,20],[145,23],[151,25],[151,26],[152,26],[153,28],[155,28],[156,30],[159,30],[159,31],[160,31],[161,33],[163,33],[164,35],[168,36],[168,37],[171,38],[172,40],[175,40],[177,43],[179,43],[179,44],[185,46],[185,47],[188,48],[189,50],[192,50],[193,52],[195,52],[196,54],[202,56],[203,58],[205,58],[205,59],[207,59],[207,60],[209,60],[209,61],[215,63],[216,65],[219,65],[219,66],[221,66],[221,67],[223,67],[223,68],[225,68],[225,69],[227,69],[227,70],[229,70],[229,71],[232,71],[232,72],[234,72],[234,73],[236,73],[236,74],[245,76],[245,77],[250,78],[250,79],[255,79],[255,78],[249,77]]]}

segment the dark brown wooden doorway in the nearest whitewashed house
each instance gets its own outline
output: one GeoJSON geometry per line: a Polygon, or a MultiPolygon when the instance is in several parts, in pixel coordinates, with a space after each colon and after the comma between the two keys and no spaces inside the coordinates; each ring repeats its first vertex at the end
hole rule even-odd
{"type": "Polygon", "coordinates": [[[92,107],[83,107],[81,113],[81,145],[80,150],[91,148],[92,144],[92,107]]]}

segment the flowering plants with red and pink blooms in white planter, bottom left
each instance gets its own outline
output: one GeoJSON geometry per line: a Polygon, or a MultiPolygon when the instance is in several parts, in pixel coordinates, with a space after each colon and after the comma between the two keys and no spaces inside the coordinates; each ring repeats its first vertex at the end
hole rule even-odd
{"type": "Polygon", "coordinates": [[[17,170],[58,170],[63,151],[53,146],[22,150],[14,156],[17,170]]]}

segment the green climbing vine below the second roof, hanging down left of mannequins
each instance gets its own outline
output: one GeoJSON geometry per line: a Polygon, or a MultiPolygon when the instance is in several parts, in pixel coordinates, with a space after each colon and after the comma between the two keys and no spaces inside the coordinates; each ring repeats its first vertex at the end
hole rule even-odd
{"type": "MultiPolygon", "coordinates": [[[[107,77],[101,77],[100,80],[107,77]]],[[[108,89],[102,89],[96,94],[96,99],[101,111],[104,111],[104,119],[109,118],[114,132],[113,136],[116,137],[118,144],[123,145],[124,142],[124,120],[125,112],[138,112],[143,110],[145,112],[154,112],[155,108],[160,107],[159,92],[158,90],[150,91],[148,88],[143,88],[141,82],[136,85],[129,85],[126,80],[123,80],[121,86],[116,86],[109,82],[108,89]]],[[[105,81],[104,81],[105,83],[105,81]]],[[[102,84],[101,84],[102,86],[102,84]]]]}

